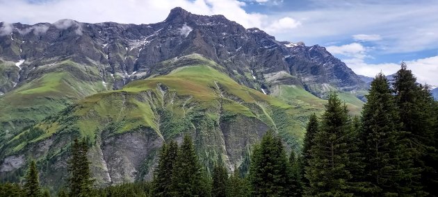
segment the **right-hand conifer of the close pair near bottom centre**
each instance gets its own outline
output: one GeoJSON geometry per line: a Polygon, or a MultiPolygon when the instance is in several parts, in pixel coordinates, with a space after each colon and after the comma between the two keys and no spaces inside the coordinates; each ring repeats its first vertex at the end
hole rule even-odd
{"type": "Polygon", "coordinates": [[[210,196],[207,182],[192,139],[185,135],[172,170],[172,196],[210,196]]]}

